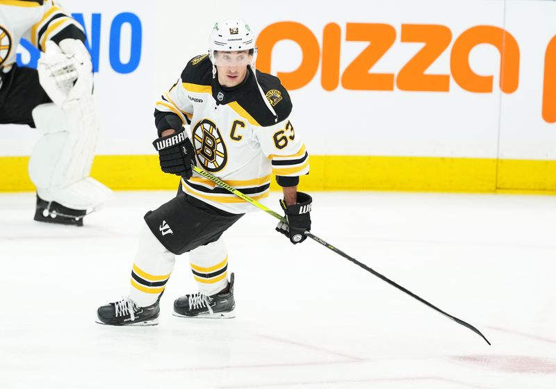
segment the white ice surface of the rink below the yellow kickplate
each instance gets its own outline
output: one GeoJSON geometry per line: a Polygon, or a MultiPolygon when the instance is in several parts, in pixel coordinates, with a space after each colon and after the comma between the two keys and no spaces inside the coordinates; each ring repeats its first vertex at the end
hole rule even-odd
{"type": "Polygon", "coordinates": [[[195,290],[178,258],[158,326],[96,324],[127,293],[142,215],[173,195],[117,192],[83,228],[0,195],[0,388],[556,388],[556,197],[312,194],[313,233],[489,347],[264,213],[225,234],[236,319],[172,316],[195,290]]]}

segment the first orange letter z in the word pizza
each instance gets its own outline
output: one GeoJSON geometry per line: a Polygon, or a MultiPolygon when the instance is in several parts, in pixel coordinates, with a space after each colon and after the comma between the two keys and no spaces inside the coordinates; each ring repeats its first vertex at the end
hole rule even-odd
{"type": "Polygon", "coordinates": [[[370,44],[343,72],[343,88],[351,90],[394,90],[393,74],[370,74],[368,72],[392,47],[395,40],[393,26],[375,23],[347,23],[345,39],[351,42],[370,42],[370,44]]]}

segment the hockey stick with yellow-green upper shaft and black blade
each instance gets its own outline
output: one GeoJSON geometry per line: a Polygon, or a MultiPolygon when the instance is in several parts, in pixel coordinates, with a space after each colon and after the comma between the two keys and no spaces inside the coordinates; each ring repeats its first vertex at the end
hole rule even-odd
{"type": "MultiPolygon", "coordinates": [[[[231,187],[230,185],[228,185],[227,183],[225,183],[224,181],[222,181],[221,179],[218,179],[218,177],[213,176],[210,173],[205,172],[202,169],[199,169],[199,167],[197,166],[193,166],[193,170],[197,173],[199,173],[200,175],[204,176],[204,178],[209,179],[211,181],[213,181],[213,183],[216,183],[218,185],[220,185],[222,188],[228,190],[229,192],[233,193],[234,195],[236,195],[237,197],[240,197],[241,199],[253,204],[254,206],[256,206],[257,208],[260,208],[261,210],[264,210],[265,213],[268,213],[269,215],[272,215],[274,217],[276,217],[278,220],[281,220],[281,222],[286,222],[286,217],[279,215],[279,213],[275,213],[275,211],[271,210],[268,207],[263,206],[263,204],[259,203],[259,201],[256,201],[254,199],[252,199],[251,197],[244,195],[242,192],[240,192],[239,190],[237,190],[236,188],[231,187]]],[[[478,336],[480,336],[481,338],[483,338],[489,345],[491,345],[491,342],[489,342],[488,339],[486,339],[484,337],[484,335],[481,333],[481,331],[479,331],[478,329],[476,329],[474,326],[472,326],[471,324],[469,324],[468,322],[464,322],[461,319],[458,319],[455,316],[450,315],[449,313],[445,313],[444,311],[442,311],[440,308],[436,308],[436,306],[430,304],[429,301],[422,299],[421,297],[419,297],[418,295],[416,295],[415,293],[407,290],[406,288],[404,288],[402,285],[399,285],[398,283],[395,283],[394,281],[392,281],[391,279],[387,278],[386,276],[383,276],[382,274],[380,274],[379,272],[376,272],[375,270],[373,270],[372,268],[368,267],[367,265],[365,265],[364,263],[359,262],[359,260],[352,258],[350,256],[348,256],[347,254],[345,254],[343,251],[341,251],[340,249],[337,249],[336,247],[330,245],[328,242],[326,242],[325,240],[322,240],[320,238],[318,238],[318,236],[313,235],[312,233],[310,233],[309,231],[305,231],[304,232],[305,235],[307,235],[309,238],[311,238],[312,240],[314,240],[315,242],[320,243],[320,245],[325,246],[327,249],[330,249],[332,251],[334,251],[336,254],[343,256],[343,258],[350,260],[351,262],[353,262],[355,265],[358,265],[360,267],[362,267],[363,269],[365,269],[367,272],[370,272],[371,274],[377,276],[379,279],[382,279],[382,281],[385,281],[387,283],[389,283],[390,285],[392,285],[395,288],[398,288],[399,290],[401,290],[404,293],[407,293],[407,295],[410,295],[411,297],[413,297],[414,299],[422,302],[423,304],[425,304],[426,306],[434,309],[434,311],[437,311],[439,313],[441,313],[442,315],[444,315],[445,317],[448,317],[448,319],[455,321],[457,324],[461,324],[464,327],[467,327],[468,329],[471,329],[471,331],[473,331],[474,333],[476,333],[478,336]]]]}

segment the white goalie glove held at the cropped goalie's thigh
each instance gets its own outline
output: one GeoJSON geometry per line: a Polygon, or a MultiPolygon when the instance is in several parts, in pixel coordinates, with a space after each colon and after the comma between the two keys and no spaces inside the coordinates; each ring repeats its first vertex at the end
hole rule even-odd
{"type": "Polygon", "coordinates": [[[67,38],[59,46],[48,40],[37,68],[42,89],[62,109],[92,94],[92,63],[81,40],[67,38]]]}

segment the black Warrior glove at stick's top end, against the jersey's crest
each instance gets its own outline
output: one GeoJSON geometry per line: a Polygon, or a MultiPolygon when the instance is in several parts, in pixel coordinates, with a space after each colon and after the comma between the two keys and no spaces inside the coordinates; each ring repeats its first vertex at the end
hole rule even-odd
{"type": "Polygon", "coordinates": [[[195,165],[195,151],[185,129],[158,138],[152,144],[158,151],[163,172],[176,174],[184,179],[191,177],[193,174],[191,165],[195,165]]]}

